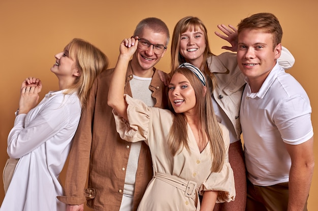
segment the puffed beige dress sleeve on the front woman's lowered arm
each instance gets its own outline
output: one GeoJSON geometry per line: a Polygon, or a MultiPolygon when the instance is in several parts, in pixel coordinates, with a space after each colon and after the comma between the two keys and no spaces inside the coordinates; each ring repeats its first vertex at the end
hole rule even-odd
{"type": "Polygon", "coordinates": [[[218,191],[216,202],[222,203],[233,201],[235,199],[236,192],[234,186],[234,174],[229,163],[229,131],[224,125],[220,123],[219,125],[222,130],[222,136],[226,148],[226,160],[220,172],[212,172],[208,179],[202,183],[199,193],[202,195],[203,191],[218,191]]]}

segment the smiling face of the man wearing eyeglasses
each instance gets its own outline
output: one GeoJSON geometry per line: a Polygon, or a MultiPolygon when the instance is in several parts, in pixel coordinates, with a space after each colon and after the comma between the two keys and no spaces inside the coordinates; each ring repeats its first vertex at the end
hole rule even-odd
{"type": "MultiPolygon", "coordinates": [[[[166,46],[167,35],[165,33],[154,32],[152,29],[145,27],[141,34],[138,35],[139,38],[147,40],[149,43],[154,45],[163,45],[166,46]]],[[[134,73],[136,74],[139,71],[149,71],[152,72],[152,68],[157,64],[160,59],[165,55],[166,50],[162,54],[155,54],[153,52],[153,46],[150,45],[148,49],[142,50],[137,48],[133,59],[132,65],[134,73]]]]}

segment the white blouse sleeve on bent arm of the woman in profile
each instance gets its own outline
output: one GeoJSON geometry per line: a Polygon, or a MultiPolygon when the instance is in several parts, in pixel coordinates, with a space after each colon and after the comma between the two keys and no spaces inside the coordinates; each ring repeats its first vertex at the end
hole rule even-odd
{"type": "Polygon", "coordinates": [[[60,98],[53,98],[34,114],[35,117],[30,122],[27,122],[27,114],[17,115],[8,136],[8,155],[11,158],[21,158],[65,128],[70,119],[69,109],[72,109],[68,105],[63,104],[60,98]]]}

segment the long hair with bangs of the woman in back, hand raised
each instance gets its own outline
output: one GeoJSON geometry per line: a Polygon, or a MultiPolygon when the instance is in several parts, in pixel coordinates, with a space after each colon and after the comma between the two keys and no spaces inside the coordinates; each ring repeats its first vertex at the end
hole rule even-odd
{"type": "Polygon", "coordinates": [[[174,27],[173,34],[172,34],[172,43],[171,43],[171,73],[173,73],[173,71],[177,69],[177,67],[180,64],[186,62],[185,58],[179,53],[181,34],[186,32],[189,29],[194,29],[195,31],[197,31],[199,28],[204,33],[206,47],[203,53],[202,64],[198,68],[200,68],[206,76],[210,77],[210,79],[212,80],[212,86],[213,86],[212,90],[214,90],[216,86],[216,79],[213,73],[210,72],[208,65],[206,63],[207,58],[209,56],[212,56],[213,54],[211,53],[210,46],[209,46],[207,29],[205,25],[203,24],[203,22],[197,17],[193,17],[193,16],[184,17],[181,20],[179,20],[176,26],[174,27]]]}

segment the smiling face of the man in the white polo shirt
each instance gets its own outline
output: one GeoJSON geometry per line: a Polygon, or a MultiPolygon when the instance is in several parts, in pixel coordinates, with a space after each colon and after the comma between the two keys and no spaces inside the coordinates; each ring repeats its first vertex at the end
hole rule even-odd
{"type": "MultiPolygon", "coordinates": [[[[260,87],[280,57],[281,44],[273,47],[273,35],[257,29],[244,29],[238,36],[237,61],[251,87],[260,87]]],[[[258,90],[252,90],[258,92],[258,90]]]]}

